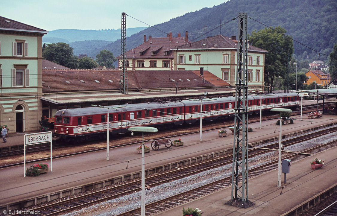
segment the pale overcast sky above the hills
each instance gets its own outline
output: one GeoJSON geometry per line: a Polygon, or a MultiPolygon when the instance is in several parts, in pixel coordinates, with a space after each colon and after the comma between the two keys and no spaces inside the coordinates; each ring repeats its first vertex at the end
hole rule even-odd
{"type": "MultiPolygon", "coordinates": [[[[227,0],[0,0],[2,17],[37,28],[119,29],[121,13],[155,25],[227,0]]],[[[147,26],[126,17],[126,27],[147,26]]]]}

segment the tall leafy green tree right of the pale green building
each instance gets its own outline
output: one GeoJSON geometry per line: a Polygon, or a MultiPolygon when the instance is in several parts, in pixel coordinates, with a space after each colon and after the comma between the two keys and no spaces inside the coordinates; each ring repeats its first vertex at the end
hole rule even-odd
{"type": "Polygon", "coordinates": [[[265,54],[265,85],[269,86],[268,93],[274,88],[275,76],[285,79],[287,71],[287,56],[289,60],[294,53],[294,44],[291,38],[284,36],[287,31],[280,26],[274,30],[264,28],[253,31],[249,36],[250,43],[268,51],[265,54]]]}

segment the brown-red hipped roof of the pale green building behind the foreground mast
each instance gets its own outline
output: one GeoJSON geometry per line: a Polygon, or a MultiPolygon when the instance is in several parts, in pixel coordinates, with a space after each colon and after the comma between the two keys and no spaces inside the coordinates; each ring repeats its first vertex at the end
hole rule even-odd
{"type": "MultiPolygon", "coordinates": [[[[192,43],[180,45],[179,49],[237,49],[237,40],[232,40],[232,38],[225,37],[221,34],[208,37],[206,39],[198,40],[192,43]]],[[[249,45],[248,51],[256,52],[266,52],[263,49],[249,45]]]]}

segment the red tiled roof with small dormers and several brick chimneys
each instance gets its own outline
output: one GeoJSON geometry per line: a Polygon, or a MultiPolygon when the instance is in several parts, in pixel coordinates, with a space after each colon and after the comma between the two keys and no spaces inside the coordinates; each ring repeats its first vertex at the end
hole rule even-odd
{"type": "MultiPolygon", "coordinates": [[[[188,41],[189,42],[189,41],[188,41]]],[[[158,59],[158,58],[171,58],[173,59],[173,52],[169,52],[168,55],[165,55],[165,51],[170,51],[172,48],[175,48],[181,44],[186,44],[185,37],[172,37],[170,41],[169,37],[153,37],[138,47],[131,49],[126,52],[126,58],[134,59],[158,59]],[[149,49],[150,48],[150,49],[149,49]],[[161,49],[160,49],[161,48],[161,49]],[[159,50],[156,55],[152,55],[151,51],[159,50]],[[145,51],[145,52],[144,52],[145,51]],[[144,52],[143,55],[139,55],[139,52],[144,52]]],[[[120,59],[121,56],[118,56],[117,59],[120,59]]]]}

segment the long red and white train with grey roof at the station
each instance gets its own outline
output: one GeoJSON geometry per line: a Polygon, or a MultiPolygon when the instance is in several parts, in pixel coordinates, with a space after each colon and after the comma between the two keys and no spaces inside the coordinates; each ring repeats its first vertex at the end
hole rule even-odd
{"type": "MultiPolygon", "coordinates": [[[[275,107],[295,109],[299,106],[299,94],[277,93],[248,96],[249,114],[262,109],[275,107]]],[[[200,101],[181,100],[177,102],[145,102],[125,104],[122,108],[109,107],[109,130],[112,134],[126,133],[132,126],[171,127],[174,125],[192,124],[234,116],[235,97],[219,97],[203,101],[200,112],[200,101]]],[[[103,138],[107,130],[107,108],[87,107],[59,110],[55,114],[54,136],[68,142],[81,141],[92,136],[103,138]]]]}

